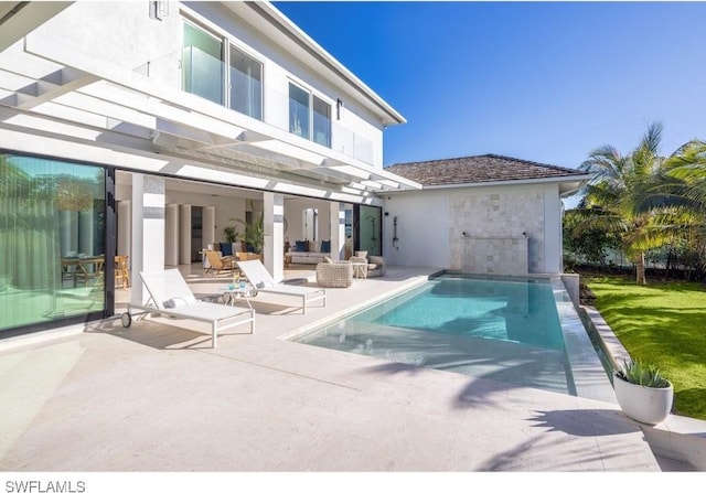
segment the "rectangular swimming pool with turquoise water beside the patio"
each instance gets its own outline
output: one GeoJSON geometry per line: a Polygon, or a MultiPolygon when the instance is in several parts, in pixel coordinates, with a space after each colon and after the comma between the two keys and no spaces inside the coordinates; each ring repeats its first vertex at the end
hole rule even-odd
{"type": "Polygon", "coordinates": [[[443,274],[291,340],[580,395],[571,361],[580,361],[581,372],[587,358],[602,366],[582,325],[577,330],[580,319],[567,311],[567,302],[568,294],[556,279],[443,274]],[[567,332],[574,356],[567,353],[567,332]]]}

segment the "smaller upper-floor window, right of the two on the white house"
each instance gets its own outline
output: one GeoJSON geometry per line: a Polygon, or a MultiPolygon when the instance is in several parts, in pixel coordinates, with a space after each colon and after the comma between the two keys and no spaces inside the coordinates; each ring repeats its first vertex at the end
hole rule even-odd
{"type": "Polygon", "coordinates": [[[289,83],[289,131],[331,147],[331,105],[289,83]]]}

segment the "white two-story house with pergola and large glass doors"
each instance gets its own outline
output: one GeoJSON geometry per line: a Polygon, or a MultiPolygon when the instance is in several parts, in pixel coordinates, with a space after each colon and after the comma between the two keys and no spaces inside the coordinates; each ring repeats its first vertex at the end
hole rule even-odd
{"type": "Polygon", "coordinates": [[[275,277],[286,238],[379,248],[354,225],[420,189],[383,169],[404,122],[268,2],[2,2],[0,332],[109,317],[116,256],[191,262],[237,219],[275,277]]]}

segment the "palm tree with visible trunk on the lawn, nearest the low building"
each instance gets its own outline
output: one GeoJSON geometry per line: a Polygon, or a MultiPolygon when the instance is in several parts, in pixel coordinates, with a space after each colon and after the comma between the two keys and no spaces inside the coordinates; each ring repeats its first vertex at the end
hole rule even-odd
{"type": "Polygon", "coordinates": [[[592,179],[585,189],[588,208],[601,212],[596,215],[606,227],[621,232],[625,254],[635,264],[635,281],[646,283],[645,250],[666,242],[666,236],[655,234],[652,202],[654,189],[661,184],[665,159],[660,157],[662,125],[653,122],[638,147],[623,156],[612,146],[593,150],[581,164],[592,179]]]}

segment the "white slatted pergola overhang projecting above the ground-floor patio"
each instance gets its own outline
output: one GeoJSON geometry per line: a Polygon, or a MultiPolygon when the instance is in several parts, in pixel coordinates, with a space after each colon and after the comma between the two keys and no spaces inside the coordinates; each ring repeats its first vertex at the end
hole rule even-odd
{"type": "Polygon", "coordinates": [[[377,192],[421,187],[38,33],[0,53],[2,128],[159,156],[168,164],[156,171],[168,175],[217,176],[225,184],[341,201],[364,203],[377,192]]]}

